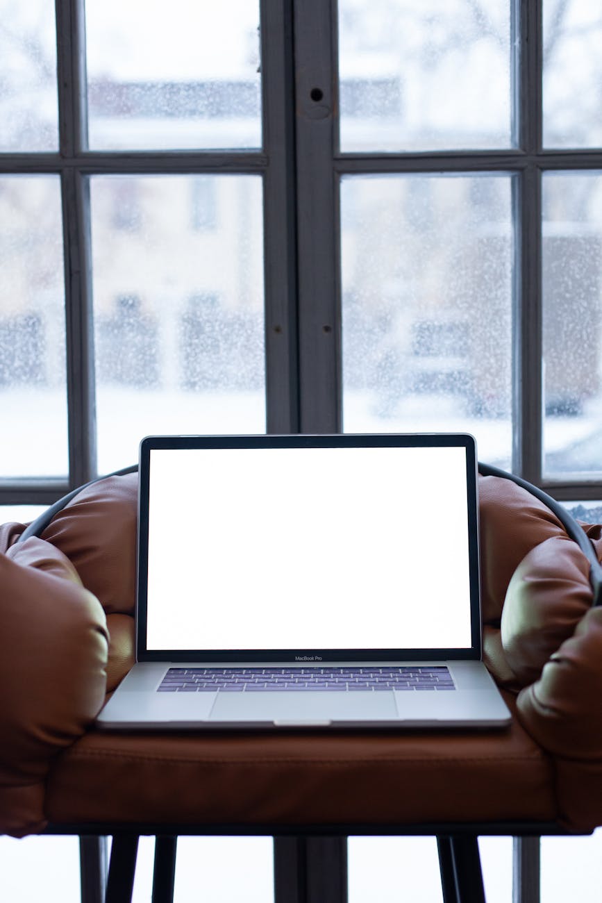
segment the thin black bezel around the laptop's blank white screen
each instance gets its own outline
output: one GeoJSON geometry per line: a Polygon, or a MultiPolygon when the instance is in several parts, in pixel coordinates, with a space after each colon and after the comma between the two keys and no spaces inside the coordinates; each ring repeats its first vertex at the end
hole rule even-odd
{"type": "MultiPolygon", "coordinates": [[[[469,433],[335,433],[310,435],[181,435],[146,436],[140,443],[138,489],[137,574],[136,574],[136,660],[139,662],[283,662],[316,664],[354,661],[430,661],[481,658],[481,610],[478,554],[477,446],[469,433]],[[151,453],[164,449],[244,449],[244,448],[353,448],[353,447],[459,447],[466,450],[468,495],[468,560],[470,567],[470,647],[424,649],[147,649],[149,482],[151,453]]],[[[441,581],[437,571],[437,551],[433,547],[430,580],[441,581]]]]}

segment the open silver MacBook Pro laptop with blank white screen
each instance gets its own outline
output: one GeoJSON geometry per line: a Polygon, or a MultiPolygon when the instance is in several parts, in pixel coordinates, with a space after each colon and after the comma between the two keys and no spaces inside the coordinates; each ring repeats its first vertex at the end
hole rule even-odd
{"type": "Polygon", "coordinates": [[[500,728],[466,434],[150,436],[99,727],[500,728]]]}

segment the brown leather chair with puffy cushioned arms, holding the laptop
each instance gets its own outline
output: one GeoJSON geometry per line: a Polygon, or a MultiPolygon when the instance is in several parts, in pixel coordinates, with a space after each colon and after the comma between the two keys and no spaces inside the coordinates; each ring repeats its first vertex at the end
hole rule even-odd
{"type": "MultiPolygon", "coordinates": [[[[134,661],[137,476],[73,494],[41,536],[0,527],[0,831],[112,834],[107,903],[130,897],[141,833],[157,836],[154,903],[171,900],[184,833],[273,834],[276,903],[344,900],[349,833],[436,835],[445,903],[484,899],[479,834],[590,833],[602,823],[590,564],[527,489],[489,475],[479,491],[484,657],[514,713],[507,731],[97,731],[134,661]]],[[[602,528],[587,529],[600,557],[602,528]]],[[[436,556],[444,518],[428,539],[436,556]]],[[[103,893],[99,849],[82,842],[86,903],[103,893]]]]}

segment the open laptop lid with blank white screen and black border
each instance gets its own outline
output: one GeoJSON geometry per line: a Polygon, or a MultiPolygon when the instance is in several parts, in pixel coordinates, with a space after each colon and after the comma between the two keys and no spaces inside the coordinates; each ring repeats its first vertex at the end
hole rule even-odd
{"type": "Polygon", "coordinates": [[[138,661],[477,659],[467,434],[151,436],[138,661]]]}

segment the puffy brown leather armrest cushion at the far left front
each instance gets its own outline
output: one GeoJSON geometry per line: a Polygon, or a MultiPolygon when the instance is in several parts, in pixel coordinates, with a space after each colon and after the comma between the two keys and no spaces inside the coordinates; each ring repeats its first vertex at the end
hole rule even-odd
{"type": "Polygon", "coordinates": [[[0,832],[42,830],[51,760],[105,699],[107,621],[59,549],[0,554],[0,832]]]}

